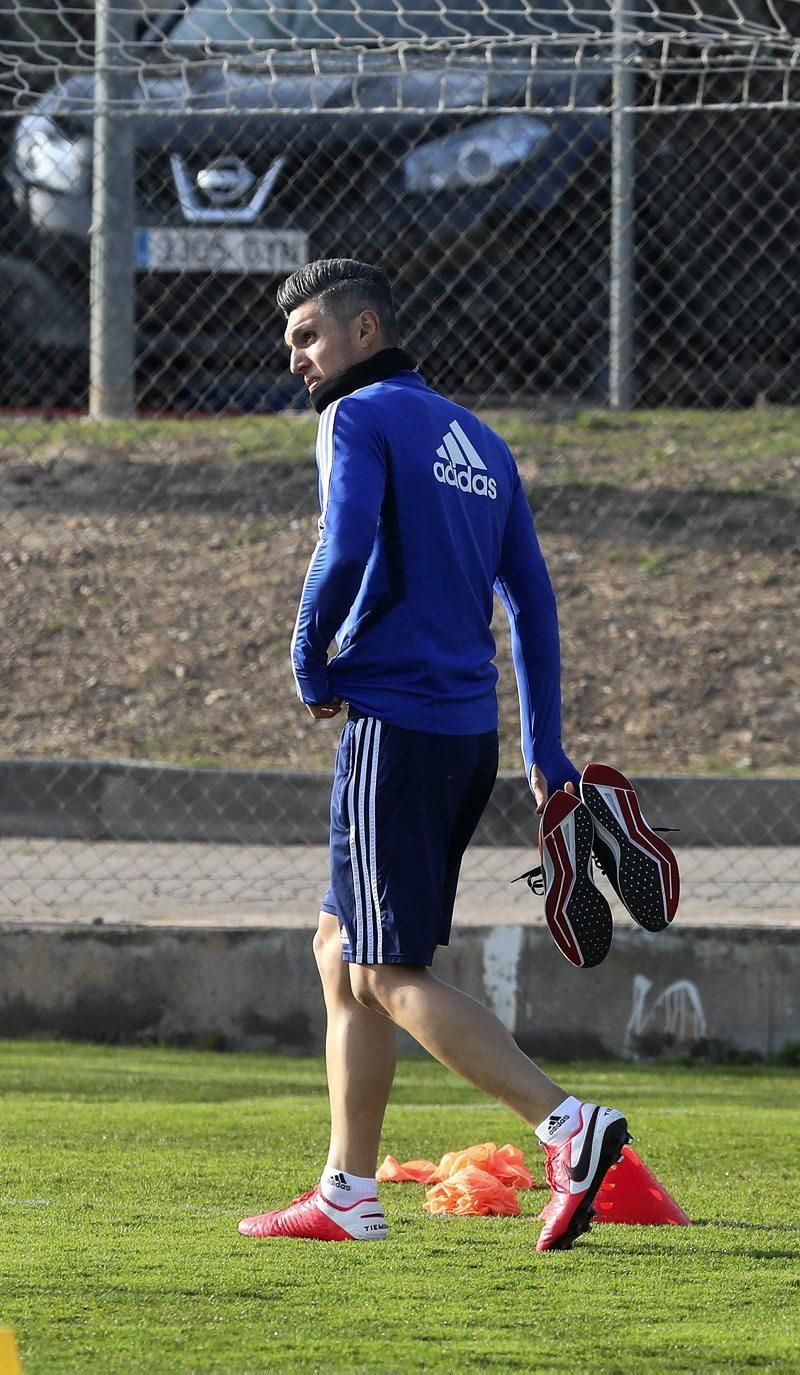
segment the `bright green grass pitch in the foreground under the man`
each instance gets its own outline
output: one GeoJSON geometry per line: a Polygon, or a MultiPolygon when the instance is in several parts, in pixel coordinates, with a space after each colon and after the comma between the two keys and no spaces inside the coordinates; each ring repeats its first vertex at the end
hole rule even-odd
{"type": "MultiPolygon", "coordinates": [[[[324,1158],[319,1060],[0,1044],[0,1326],[26,1375],[797,1371],[800,1094],[777,1068],[583,1064],[691,1228],[601,1226],[536,1255],[533,1214],[427,1218],[388,1244],[249,1242],[324,1158]]],[[[404,1060],[384,1148],[539,1151],[509,1112],[404,1060]]]]}

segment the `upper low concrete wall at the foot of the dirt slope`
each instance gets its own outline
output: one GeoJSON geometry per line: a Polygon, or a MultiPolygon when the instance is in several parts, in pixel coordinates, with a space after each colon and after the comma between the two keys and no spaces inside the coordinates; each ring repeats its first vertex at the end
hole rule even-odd
{"type": "MultiPolygon", "coordinates": [[[[635,778],[682,846],[800,844],[800,778],[635,778]]],[[[0,836],[326,844],[330,777],[55,759],[0,760],[0,836]]],[[[528,846],[531,793],[498,780],[477,844],[528,846]]]]}

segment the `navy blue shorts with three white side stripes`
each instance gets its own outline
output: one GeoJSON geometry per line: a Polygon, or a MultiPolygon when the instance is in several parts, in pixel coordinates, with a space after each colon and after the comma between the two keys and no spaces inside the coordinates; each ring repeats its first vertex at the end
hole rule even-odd
{"type": "Polygon", "coordinates": [[[498,773],[498,732],[432,736],[351,708],[335,760],[330,888],[351,964],[432,964],[498,773]]]}

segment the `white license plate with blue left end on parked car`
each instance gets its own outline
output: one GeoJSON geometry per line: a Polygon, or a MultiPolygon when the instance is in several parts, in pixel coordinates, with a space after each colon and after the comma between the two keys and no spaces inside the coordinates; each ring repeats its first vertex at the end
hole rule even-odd
{"type": "Polygon", "coordinates": [[[136,230],[136,267],[144,272],[265,272],[279,276],[308,263],[302,230],[136,230]]]}

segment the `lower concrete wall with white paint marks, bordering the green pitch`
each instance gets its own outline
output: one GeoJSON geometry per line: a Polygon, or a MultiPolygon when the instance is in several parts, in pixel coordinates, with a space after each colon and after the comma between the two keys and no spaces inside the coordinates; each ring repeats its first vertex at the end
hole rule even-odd
{"type": "MultiPolygon", "coordinates": [[[[308,931],[5,925],[0,971],[0,1035],[323,1046],[308,931]]],[[[550,1057],[800,1040],[800,930],[624,928],[599,969],[577,971],[542,928],[477,927],[436,971],[550,1057]]]]}

